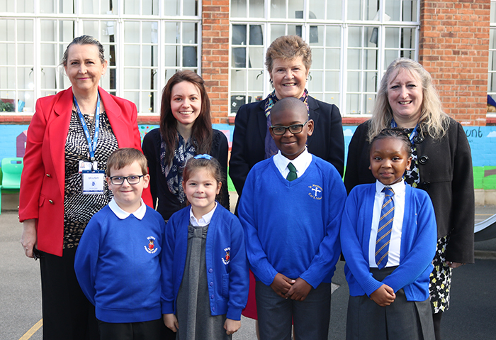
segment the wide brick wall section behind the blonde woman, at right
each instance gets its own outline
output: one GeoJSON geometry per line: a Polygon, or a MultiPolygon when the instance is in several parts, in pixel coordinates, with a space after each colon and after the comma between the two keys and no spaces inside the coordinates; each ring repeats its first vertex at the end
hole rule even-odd
{"type": "Polygon", "coordinates": [[[464,125],[486,125],[490,0],[423,0],[419,62],[446,114],[464,125]]]}

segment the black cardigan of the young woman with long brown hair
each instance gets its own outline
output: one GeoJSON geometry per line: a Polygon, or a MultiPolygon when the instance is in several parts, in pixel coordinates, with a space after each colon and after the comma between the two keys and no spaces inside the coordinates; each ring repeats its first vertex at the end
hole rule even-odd
{"type": "MultiPolygon", "coordinates": [[[[153,204],[162,217],[167,221],[174,212],[186,207],[179,202],[176,195],[172,194],[167,187],[165,175],[162,173],[160,165],[160,145],[162,138],[160,137],[160,129],[154,128],[143,138],[142,150],[148,160],[148,171],[150,172],[150,192],[152,192],[153,204]],[[158,199],[158,202],[157,202],[158,199]]],[[[227,176],[227,138],[224,133],[213,129],[212,149],[210,155],[216,158],[223,175],[227,176]]],[[[229,192],[227,190],[227,177],[222,180],[221,188],[222,198],[220,204],[229,210],[229,192]]]]}

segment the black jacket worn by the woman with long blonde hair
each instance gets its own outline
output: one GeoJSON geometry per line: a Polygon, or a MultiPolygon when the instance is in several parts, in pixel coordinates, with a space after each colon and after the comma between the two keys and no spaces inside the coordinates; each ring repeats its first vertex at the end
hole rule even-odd
{"type": "MultiPolygon", "coordinates": [[[[346,163],[344,185],[350,190],[356,185],[373,183],[376,179],[368,170],[367,131],[370,121],[361,124],[351,138],[346,163]]],[[[437,222],[438,239],[450,234],[446,261],[473,263],[473,227],[475,198],[470,146],[461,124],[450,119],[446,136],[434,140],[427,133],[415,138],[419,188],[432,199],[437,222]]]]}

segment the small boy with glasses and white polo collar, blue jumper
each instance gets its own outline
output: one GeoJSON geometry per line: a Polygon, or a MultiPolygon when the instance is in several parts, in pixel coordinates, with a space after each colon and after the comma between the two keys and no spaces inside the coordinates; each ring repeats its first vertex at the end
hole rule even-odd
{"type": "Polygon", "coordinates": [[[77,280],[96,307],[101,339],[159,340],[165,223],[141,199],[150,181],[147,159],[120,148],[108,157],[106,175],[113,199],[84,230],[77,280]]]}

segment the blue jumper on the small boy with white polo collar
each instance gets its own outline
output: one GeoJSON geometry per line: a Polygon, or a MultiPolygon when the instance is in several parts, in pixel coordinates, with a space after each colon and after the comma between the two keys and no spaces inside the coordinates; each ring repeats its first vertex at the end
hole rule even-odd
{"type": "Polygon", "coordinates": [[[147,207],[145,216],[119,219],[106,205],[89,221],[74,270],[84,295],[103,322],[147,322],[162,317],[161,272],[165,224],[147,207]]]}

